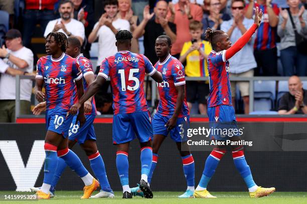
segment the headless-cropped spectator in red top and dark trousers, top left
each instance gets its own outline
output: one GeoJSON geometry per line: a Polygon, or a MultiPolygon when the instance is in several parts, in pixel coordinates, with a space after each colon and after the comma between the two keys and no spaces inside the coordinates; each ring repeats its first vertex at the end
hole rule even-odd
{"type": "Polygon", "coordinates": [[[55,19],[54,3],[58,0],[26,0],[26,9],[23,14],[23,42],[24,46],[30,48],[35,60],[38,60],[35,49],[32,47],[31,38],[34,34],[36,25],[39,24],[42,32],[50,20],[55,19]]]}

